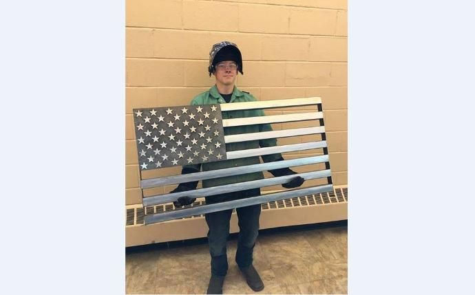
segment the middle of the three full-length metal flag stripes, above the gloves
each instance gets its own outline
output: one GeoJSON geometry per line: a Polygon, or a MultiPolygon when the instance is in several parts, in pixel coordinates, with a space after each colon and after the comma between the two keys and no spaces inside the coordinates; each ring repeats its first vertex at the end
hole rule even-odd
{"type": "Polygon", "coordinates": [[[164,195],[156,195],[143,198],[143,206],[154,206],[176,201],[179,197],[204,197],[212,195],[220,195],[224,193],[238,192],[241,190],[249,190],[251,188],[262,188],[264,186],[275,186],[277,184],[286,184],[293,177],[300,176],[305,180],[316,179],[331,176],[330,170],[312,171],[307,173],[297,173],[294,175],[286,175],[280,177],[272,177],[267,179],[251,180],[250,182],[238,182],[236,184],[226,184],[224,186],[213,186],[211,188],[199,188],[197,190],[188,190],[180,193],[169,193],[164,195]]]}

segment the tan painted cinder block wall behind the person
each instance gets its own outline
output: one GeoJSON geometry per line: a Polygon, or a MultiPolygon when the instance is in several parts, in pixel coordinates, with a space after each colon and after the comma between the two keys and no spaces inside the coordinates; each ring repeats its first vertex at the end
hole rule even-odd
{"type": "MultiPolygon", "coordinates": [[[[237,86],[258,100],[321,96],[335,185],[347,184],[346,0],[127,0],[126,204],[141,204],[132,109],[188,105],[214,84],[211,45],[237,43],[244,76],[237,86]]],[[[304,111],[304,107],[301,108],[304,111]]],[[[266,113],[282,113],[267,111],[266,113]]],[[[273,124],[275,130],[310,126],[273,124]]],[[[279,140],[279,144],[305,142],[279,140]]],[[[301,157],[300,152],[286,159],[301,157]]],[[[318,154],[318,153],[311,153],[318,154]]],[[[297,169],[299,172],[306,169],[297,169]]],[[[181,168],[144,177],[179,174],[181,168]]],[[[268,176],[268,175],[267,175],[268,176]]],[[[312,185],[318,182],[309,182],[312,185]]],[[[170,188],[149,190],[165,193],[170,188]]],[[[272,189],[273,187],[271,187],[272,189]]]]}

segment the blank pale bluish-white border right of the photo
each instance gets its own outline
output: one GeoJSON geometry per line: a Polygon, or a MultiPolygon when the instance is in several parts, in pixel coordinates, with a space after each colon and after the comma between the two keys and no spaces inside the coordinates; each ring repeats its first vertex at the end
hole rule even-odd
{"type": "Polygon", "coordinates": [[[471,293],[474,5],[348,2],[349,294],[471,293]]]}

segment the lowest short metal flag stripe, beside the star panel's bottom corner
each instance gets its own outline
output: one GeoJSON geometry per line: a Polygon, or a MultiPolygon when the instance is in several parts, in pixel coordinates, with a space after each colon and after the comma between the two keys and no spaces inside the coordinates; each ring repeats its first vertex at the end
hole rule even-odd
{"type": "Polygon", "coordinates": [[[273,153],[288,153],[289,151],[304,151],[306,149],[321,149],[326,146],[326,140],[322,140],[319,142],[304,142],[302,144],[286,144],[284,146],[269,146],[266,148],[229,151],[226,153],[226,160],[237,159],[240,157],[253,157],[256,155],[271,155],[273,153]]]}

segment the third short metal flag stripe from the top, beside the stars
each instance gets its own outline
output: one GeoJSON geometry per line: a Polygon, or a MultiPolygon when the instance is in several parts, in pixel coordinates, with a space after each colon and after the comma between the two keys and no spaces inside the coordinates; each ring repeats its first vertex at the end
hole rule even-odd
{"type": "Polygon", "coordinates": [[[225,135],[224,142],[229,144],[231,142],[245,142],[248,140],[265,140],[267,138],[288,138],[290,136],[297,135],[307,135],[307,134],[317,134],[324,133],[325,127],[306,127],[306,128],[296,128],[296,129],[284,129],[278,131],[265,131],[265,132],[255,132],[255,133],[241,133],[235,135],[225,135]]]}

